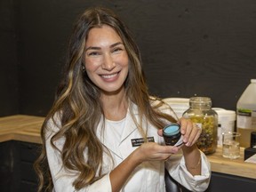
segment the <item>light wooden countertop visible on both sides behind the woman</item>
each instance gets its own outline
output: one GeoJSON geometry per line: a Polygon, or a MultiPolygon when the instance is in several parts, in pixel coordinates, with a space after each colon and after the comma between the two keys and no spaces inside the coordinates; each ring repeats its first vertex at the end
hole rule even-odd
{"type": "MultiPolygon", "coordinates": [[[[44,122],[43,116],[4,116],[0,117],[0,142],[20,140],[41,143],[40,129],[44,122]]],[[[241,157],[229,160],[221,156],[221,148],[208,155],[212,165],[212,172],[226,173],[251,179],[256,179],[256,164],[244,163],[244,148],[241,157]]]]}

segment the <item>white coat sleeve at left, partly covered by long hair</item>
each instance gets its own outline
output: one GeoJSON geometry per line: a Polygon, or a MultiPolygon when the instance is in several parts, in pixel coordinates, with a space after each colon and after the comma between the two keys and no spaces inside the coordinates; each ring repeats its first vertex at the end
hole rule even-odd
{"type": "MultiPolygon", "coordinates": [[[[52,182],[54,192],[73,192],[77,191],[74,186],[73,182],[76,180],[78,172],[71,172],[63,168],[60,151],[64,145],[65,139],[60,139],[54,142],[55,146],[60,149],[60,151],[56,148],[52,148],[51,145],[51,138],[54,132],[58,131],[59,128],[57,125],[53,124],[52,121],[48,122],[47,124],[48,132],[46,132],[46,154],[48,159],[48,164],[50,167],[50,171],[52,174],[52,182]],[[51,130],[51,131],[49,131],[51,130]]],[[[78,191],[81,192],[111,192],[111,183],[109,179],[109,173],[104,175],[100,180],[97,180],[92,183],[92,185],[82,188],[78,191]]]]}

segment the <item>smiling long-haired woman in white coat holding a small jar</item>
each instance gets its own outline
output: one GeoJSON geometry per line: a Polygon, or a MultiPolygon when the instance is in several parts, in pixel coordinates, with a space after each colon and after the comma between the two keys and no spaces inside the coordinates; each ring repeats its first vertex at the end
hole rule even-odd
{"type": "Polygon", "coordinates": [[[190,190],[208,187],[210,166],[195,144],[201,130],[180,119],[184,145],[164,145],[163,127],[177,120],[149,97],[139,49],[114,12],[80,17],[64,75],[42,127],[39,191],[46,178],[61,192],[165,191],[164,168],[190,190]]]}

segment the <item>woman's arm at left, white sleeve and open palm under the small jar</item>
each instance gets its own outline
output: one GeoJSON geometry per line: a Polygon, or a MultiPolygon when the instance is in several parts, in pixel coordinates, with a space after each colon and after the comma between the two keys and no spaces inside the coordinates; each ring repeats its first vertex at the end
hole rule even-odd
{"type": "MultiPolygon", "coordinates": [[[[56,141],[56,147],[61,150],[65,140],[56,141]]],[[[52,181],[56,192],[75,191],[73,182],[77,172],[68,172],[63,168],[60,151],[52,148],[50,138],[46,140],[48,164],[52,172],[52,181]]],[[[147,142],[135,149],[130,156],[117,165],[110,173],[96,180],[92,185],[79,191],[106,191],[117,192],[123,188],[124,183],[132,171],[145,161],[164,161],[172,154],[177,153],[179,148],[172,146],[161,146],[155,142],[147,142]]]]}

